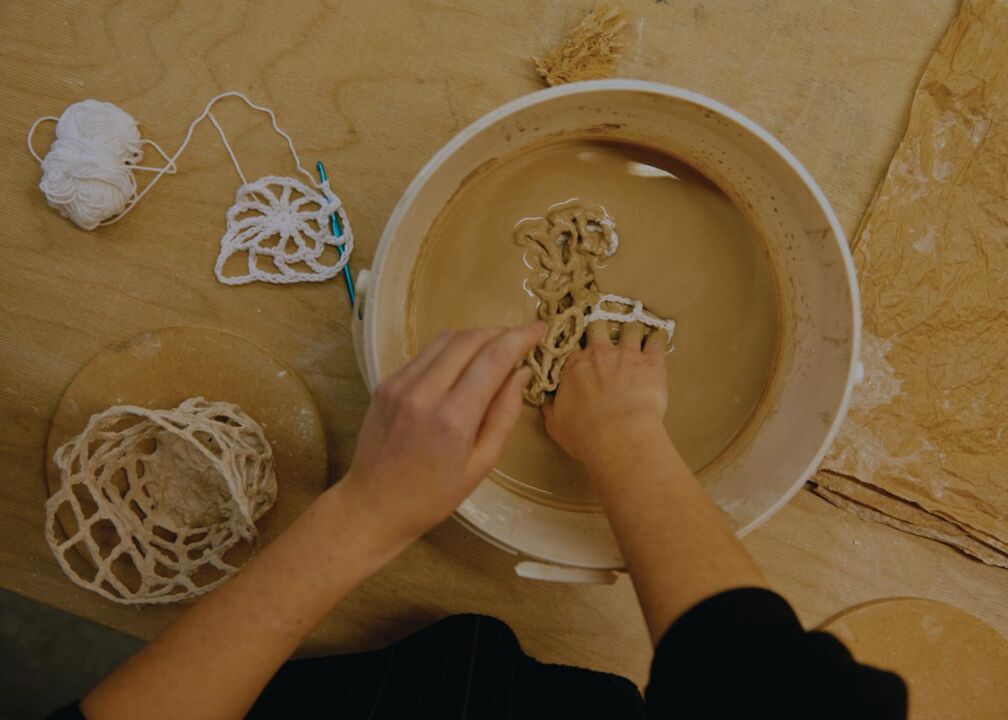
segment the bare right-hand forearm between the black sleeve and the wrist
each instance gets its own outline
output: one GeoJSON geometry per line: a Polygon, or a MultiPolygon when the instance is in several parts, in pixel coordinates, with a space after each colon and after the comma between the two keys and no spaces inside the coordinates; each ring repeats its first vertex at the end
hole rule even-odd
{"type": "Polygon", "coordinates": [[[654,642],[705,598],[765,586],[663,428],[603,449],[590,468],[654,642]]]}

